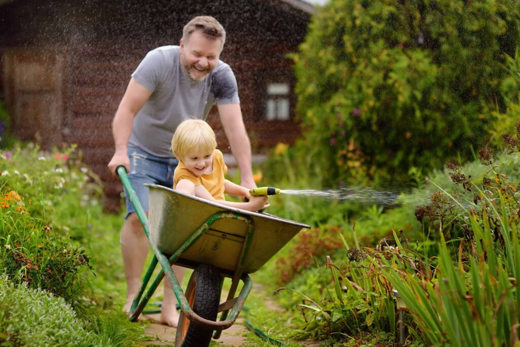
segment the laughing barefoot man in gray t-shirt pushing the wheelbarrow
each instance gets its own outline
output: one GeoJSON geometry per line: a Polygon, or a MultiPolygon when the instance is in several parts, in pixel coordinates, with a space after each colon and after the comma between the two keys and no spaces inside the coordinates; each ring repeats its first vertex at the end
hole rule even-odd
{"type": "MultiPolygon", "coordinates": [[[[170,149],[177,125],[190,116],[205,119],[216,102],[231,151],[241,172],[241,185],[256,187],[251,170],[251,145],[245,132],[238,87],[231,68],[219,60],[226,32],[213,17],[193,18],[185,25],[179,46],[151,50],[132,74],[112,122],[115,153],[109,170],[124,165],[139,201],[148,211],[145,183],[173,186],[177,160],[170,149]]],[[[127,214],[121,250],[127,284],[124,310],[129,311],[140,286],[148,240],[125,192],[127,214]]],[[[179,280],[184,268],[173,266],[179,280]]],[[[164,286],[161,323],[178,321],[170,281],[164,286]]]]}

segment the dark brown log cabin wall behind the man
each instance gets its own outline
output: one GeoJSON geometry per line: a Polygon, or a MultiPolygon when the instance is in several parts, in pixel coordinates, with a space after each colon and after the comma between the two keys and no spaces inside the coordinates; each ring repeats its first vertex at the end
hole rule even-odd
{"type": "MultiPolygon", "coordinates": [[[[183,25],[198,15],[227,32],[221,59],[237,76],[246,129],[255,152],[299,135],[292,121],[291,61],[309,14],[285,0],[101,1],[17,0],[0,3],[2,95],[14,132],[43,148],[78,145],[83,161],[105,182],[106,207],[120,206],[121,184],[106,165],[113,155],[111,121],[131,73],[146,53],[178,44],[183,25]],[[291,119],[265,120],[266,87],[290,86],[291,119]]],[[[216,109],[208,119],[218,146],[229,152],[216,109]]]]}

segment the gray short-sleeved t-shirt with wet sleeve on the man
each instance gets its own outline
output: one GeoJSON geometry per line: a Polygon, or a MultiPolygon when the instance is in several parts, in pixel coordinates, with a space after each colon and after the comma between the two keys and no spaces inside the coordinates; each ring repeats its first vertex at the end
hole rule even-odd
{"type": "Polygon", "coordinates": [[[186,118],[206,119],[213,104],[238,104],[237,80],[222,60],[200,82],[191,80],[180,64],[180,47],[163,46],[148,52],[132,77],[152,92],[139,110],[128,140],[157,157],[173,157],[171,141],[186,118]]]}

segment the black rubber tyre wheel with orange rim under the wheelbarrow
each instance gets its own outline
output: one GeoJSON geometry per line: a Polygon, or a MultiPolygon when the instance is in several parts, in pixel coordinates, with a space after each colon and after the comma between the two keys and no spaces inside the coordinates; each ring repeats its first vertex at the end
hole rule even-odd
{"type": "MultiPolygon", "coordinates": [[[[216,321],[222,277],[212,265],[201,264],[193,271],[186,288],[186,299],[193,312],[202,318],[216,321]]],[[[183,312],[180,313],[175,346],[205,347],[210,344],[213,329],[191,323],[183,312]]]]}

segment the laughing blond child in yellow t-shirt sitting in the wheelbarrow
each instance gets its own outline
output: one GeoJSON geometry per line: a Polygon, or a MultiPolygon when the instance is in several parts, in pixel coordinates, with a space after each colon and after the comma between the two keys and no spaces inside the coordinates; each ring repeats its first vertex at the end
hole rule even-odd
{"type": "Polygon", "coordinates": [[[215,132],[200,119],[187,119],[177,126],[172,151],[179,160],[173,176],[173,189],[189,195],[248,211],[269,206],[269,197],[255,197],[249,189],[224,178],[227,166],[217,147],[215,132]],[[243,196],[248,202],[226,201],[224,193],[243,196]]]}

